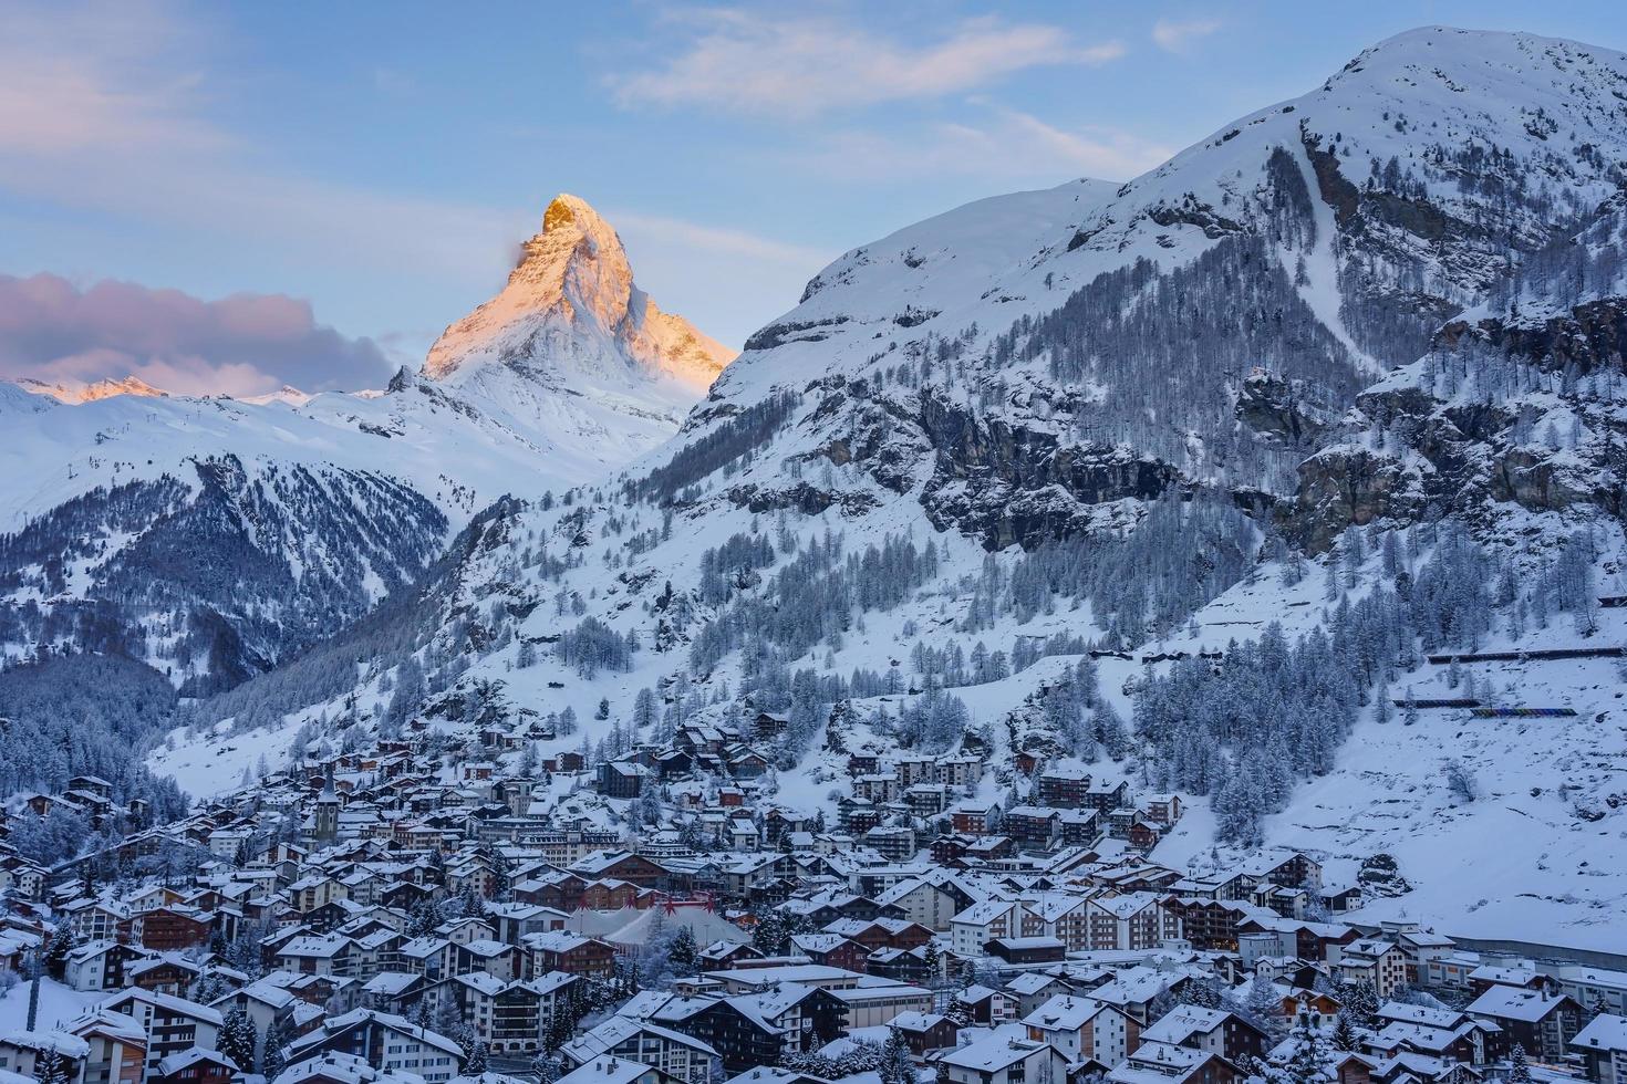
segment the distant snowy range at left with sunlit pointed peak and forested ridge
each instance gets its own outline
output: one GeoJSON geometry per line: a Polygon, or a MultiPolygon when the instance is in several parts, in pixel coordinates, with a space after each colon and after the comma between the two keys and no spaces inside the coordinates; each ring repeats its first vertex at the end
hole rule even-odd
{"type": "Polygon", "coordinates": [[[526,252],[382,392],[0,385],[0,660],[117,647],[221,687],[413,583],[504,494],[669,437],[731,353],[633,286],[582,200],[555,200],[526,252]]]}

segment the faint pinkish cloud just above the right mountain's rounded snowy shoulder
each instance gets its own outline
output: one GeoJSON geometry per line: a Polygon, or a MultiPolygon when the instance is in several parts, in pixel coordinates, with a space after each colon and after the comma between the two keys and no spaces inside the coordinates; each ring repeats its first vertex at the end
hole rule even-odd
{"type": "Polygon", "coordinates": [[[1061,128],[1017,109],[988,107],[983,122],[940,122],[906,137],[843,132],[804,156],[835,176],[958,174],[1005,187],[1071,177],[1126,180],[1171,154],[1168,146],[1100,125],[1061,128]]]}

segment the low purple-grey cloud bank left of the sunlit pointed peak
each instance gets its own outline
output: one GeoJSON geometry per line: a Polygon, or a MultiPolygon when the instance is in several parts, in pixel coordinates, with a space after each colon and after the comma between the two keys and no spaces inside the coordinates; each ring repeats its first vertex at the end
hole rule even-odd
{"type": "Polygon", "coordinates": [[[202,301],[177,289],[0,275],[0,377],[80,384],[135,375],[184,395],[377,387],[392,366],[285,294],[202,301]]]}

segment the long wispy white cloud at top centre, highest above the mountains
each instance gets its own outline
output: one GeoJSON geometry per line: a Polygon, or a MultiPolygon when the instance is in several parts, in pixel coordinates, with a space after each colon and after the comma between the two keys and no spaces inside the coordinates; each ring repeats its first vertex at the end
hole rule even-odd
{"type": "Polygon", "coordinates": [[[892,41],[831,18],[688,10],[672,16],[690,41],[662,67],[612,76],[622,106],[706,106],[807,117],[830,109],[932,99],[1045,65],[1095,65],[1121,42],[1080,44],[1058,26],[966,20],[923,44],[892,41]]]}

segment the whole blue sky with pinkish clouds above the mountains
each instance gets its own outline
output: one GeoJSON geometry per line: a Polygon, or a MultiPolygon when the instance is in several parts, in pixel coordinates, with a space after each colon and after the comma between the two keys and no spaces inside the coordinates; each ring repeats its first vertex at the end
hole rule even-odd
{"type": "Polygon", "coordinates": [[[0,377],[379,387],[558,192],[739,345],[848,249],[1134,177],[1429,23],[1627,49],[1619,0],[0,0],[0,377]]]}

